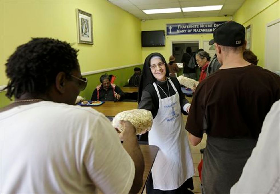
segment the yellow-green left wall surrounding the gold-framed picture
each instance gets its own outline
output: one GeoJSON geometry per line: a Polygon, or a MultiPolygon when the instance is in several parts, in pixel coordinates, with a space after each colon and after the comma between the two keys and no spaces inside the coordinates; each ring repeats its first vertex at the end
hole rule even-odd
{"type": "MultiPolygon", "coordinates": [[[[1,86],[8,82],[4,65],[7,58],[31,37],[74,43],[73,47],[79,49],[82,73],[142,63],[140,19],[107,0],[1,1],[1,86]],[[77,44],[76,8],[92,14],[94,45],[77,44]]],[[[124,85],[133,67],[112,72],[119,74],[116,82],[124,85]]],[[[89,98],[101,74],[87,76],[89,83],[81,94],[89,98]]],[[[5,92],[0,98],[0,107],[7,105],[5,92]]]]}

